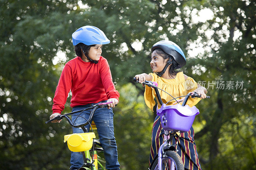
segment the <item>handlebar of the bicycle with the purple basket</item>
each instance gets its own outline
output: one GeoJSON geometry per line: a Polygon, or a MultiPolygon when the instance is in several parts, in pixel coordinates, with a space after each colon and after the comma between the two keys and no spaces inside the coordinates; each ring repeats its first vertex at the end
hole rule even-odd
{"type": "MultiPolygon", "coordinates": [[[[139,83],[139,81],[135,77],[133,78],[133,82],[139,83]]],[[[142,84],[147,85],[148,87],[153,87],[154,88],[154,90],[156,92],[157,100],[158,100],[159,104],[162,106],[164,103],[163,103],[163,101],[162,101],[162,99],[160,97],[160,94],[158,92],[156,84],[153,83],[152,81],[147,81],[147,80],[145,80],[145,82],[143,82],[142,84]]],[[[185,99],[184,99],[184,101],[183,101],[181,106],[185,106],[186,105],[189,96],[191,96],[192,98],[195,98],[195,97],[200,98],[201,97],[201,95],[198,95],[196,92],[194,92],[193,94],[192,93],[188,93],[186,95],[186,97],[185,97],[185,99]]],[[[206,96],[206,98],[210,99],[210,96],[206,96]]]]}

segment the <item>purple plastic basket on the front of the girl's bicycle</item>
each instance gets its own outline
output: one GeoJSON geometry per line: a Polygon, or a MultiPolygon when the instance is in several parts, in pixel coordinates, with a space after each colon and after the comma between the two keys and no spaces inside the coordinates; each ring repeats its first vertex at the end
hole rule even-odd
{"type": "Polygon", "coordinates": [[[170,106],[163,104],[156,112],[160,116],[164,130],[180,130],[181,132],[189,131],[195,116],[199,114],[199,110],[195,106],[181,106],[180,104],[170,106]]]}

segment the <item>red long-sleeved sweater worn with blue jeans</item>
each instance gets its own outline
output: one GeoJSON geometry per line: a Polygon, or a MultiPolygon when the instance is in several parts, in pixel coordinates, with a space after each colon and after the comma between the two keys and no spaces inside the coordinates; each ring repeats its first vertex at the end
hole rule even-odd
{"type": "Polygon", "coordinates": [[[70,89],[71,107],[119,98],[108,61],[102,56],[97,64],[84,62],[80,57],[66,63],[53,98],[53,113],[63,111],[70,89]]]}

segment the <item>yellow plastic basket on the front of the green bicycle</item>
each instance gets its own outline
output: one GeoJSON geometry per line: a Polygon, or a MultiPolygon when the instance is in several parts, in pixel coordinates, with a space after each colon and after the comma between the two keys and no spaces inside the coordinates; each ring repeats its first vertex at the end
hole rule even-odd
{"type": "Polygon", "coordinates": [[[95,138],[93,132],[73,133],[64,136],[64,142],[67,141],[68,149],[73,152],[87,151],[92,148],[92,138],[95,138]]]}

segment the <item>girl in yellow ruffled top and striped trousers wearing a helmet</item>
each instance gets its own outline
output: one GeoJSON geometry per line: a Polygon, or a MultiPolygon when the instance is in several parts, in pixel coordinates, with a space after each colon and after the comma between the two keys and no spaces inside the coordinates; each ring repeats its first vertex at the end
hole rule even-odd
{"type": "MultiPolygon", "coordinates": [[[[175,69],[179,69],[186,64],[186,58],[183,51],[178,45],[172,41],[159,41],[153,45],[151,48],[151,62],[150,66],[153,73],[146,74],[142,73],[136,75],[135,78],[139,80],[140,83],[148,81],[155,81],[158,83],[158,87],[164,91],[171,94],[173,97],[179,97],[187,95],[188,92],[196,92],[201,95],[201,99],[206,98],[206,89],[198,85],[193,78],[190,78],[183,74],[183,72],[178,72],[175,69]]],[[[164,103],[167,103],[173,98],[163,91],[159,91],[161,99],[164,103]]],[[[147,106],[153,111],[155,105],[154,97],[156,96],[155,91],[146,86],[144,99],[147,106]]],[[[187,104],[192,107],[196,105],[201,99],[189,98],[187,104]]],[[[175,104],[175,100],[169,102],[168,105],[175,104]]],[[[161,106],[158,103],[158,109],[161,106]]],[[[178,137],[178,154],[180,155],[185,169],[201,169],[201,165],[198,159],[198,154],[196,151],[196,144],[194,142],[194,129],[191,129],[185,133],[176,133],[172,141],[177,141],[178,137]]],[[[153,123],[152,138],[151,138],[151,149],[149,155],[149,166],[151,165],[154,157],[158,153],[159,146],[163,144],[163,130],[161,128],[160,119],[157,115],[153,123]]]]}

